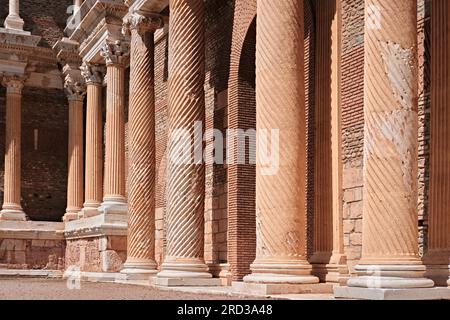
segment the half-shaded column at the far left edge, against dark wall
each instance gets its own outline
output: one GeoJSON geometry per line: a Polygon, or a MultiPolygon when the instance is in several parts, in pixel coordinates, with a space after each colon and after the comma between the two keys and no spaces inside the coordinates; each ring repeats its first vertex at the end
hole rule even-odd
{"type": "Polygon", "coordinates": [[[7,76],[3,80],[6,90],[6,148],[5,190],[0,220],[25,221],[27,217],[21,200],[21,131],[22,89],[24,78],[7,76]]]}

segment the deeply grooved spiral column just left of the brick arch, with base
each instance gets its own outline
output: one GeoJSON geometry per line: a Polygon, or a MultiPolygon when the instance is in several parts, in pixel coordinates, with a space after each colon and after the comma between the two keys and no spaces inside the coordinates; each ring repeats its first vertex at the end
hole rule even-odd
{"type": "MultiPolygon", "coordinates": [[[[169,30],[169,155],[177,153],[177,130],[193,142],[204,123],[205,9],[203,0],[171,0],[169,30]]],[[[202,150],[195,145],[195,153],[202,150]]],[[[190,150],[190,149],[189,149],[190,150]]],[[[204,262],[204,163],[169,156],[166,256],[158,277],[210,278],[204,262]]],[[[191,159],[192,160],[192,159],[191,159]]]]}

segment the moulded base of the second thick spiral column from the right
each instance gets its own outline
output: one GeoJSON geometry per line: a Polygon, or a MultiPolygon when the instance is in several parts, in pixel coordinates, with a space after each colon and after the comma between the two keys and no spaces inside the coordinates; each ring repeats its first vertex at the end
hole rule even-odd
{"type": "Polygon", "coordinates": [[[307,261],[280,263],[255,262],[250,266],[252,274],[244,277],[246,283],[264,284],[315,284],[319,278],[313,276],[312,266],[307,261]]]}

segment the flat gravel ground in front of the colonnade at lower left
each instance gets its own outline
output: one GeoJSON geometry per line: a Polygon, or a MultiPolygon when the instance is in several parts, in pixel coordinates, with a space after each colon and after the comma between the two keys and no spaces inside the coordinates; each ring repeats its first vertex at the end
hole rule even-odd
{"type": "Polygon", "coordinates": [[[184,293],[113,283],[81,283],[70,290],[64,280],[0,279],[0,300],[245,300],[242,296],[184,293]]]}

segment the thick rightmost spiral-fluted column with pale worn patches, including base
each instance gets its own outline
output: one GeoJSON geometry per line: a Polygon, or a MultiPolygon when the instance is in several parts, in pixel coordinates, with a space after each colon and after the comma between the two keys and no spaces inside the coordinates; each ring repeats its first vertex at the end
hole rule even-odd
{"type": "Polygon", "coordinates": [[[367,0],[362,259],[348,285],[432,287],[418,256],[417,1],[367,0]]]}

